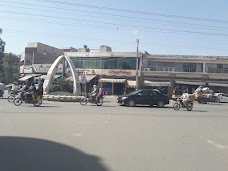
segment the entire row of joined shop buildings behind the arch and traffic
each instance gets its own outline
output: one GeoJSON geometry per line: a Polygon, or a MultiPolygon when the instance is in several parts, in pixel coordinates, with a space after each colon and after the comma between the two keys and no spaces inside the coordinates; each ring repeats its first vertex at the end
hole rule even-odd
{"type": "MultiPolygon", "coordinates": [[[[198,86],[209,86],[216,92],[228,92],[228,57],[151,55],[147,52],[112,52],[108,46],[99,49],[54,48],[42,43],[29,43],[21,57],[21,80],[34,76],[45,78],[52,63],[60,55],[72,60],[80,77],[87,74],[87,88],[93,84],[104,87],[109,94],[121,94],[136,88],[137,59],[139,88],[157,88],[171,94],[174,88],[192,93],[198,86]],[[138,58],[137,58],[138,57],[138,58]]],[[[58,73],[68,66],[59,65],[58,73]]]]}

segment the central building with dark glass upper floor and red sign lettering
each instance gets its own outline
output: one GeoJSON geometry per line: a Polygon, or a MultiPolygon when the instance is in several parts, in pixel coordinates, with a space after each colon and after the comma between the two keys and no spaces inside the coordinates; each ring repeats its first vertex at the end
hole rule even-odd
{"type": "MultiPolygon", "coordinates": [[[[137,52],[112,52],[101,46],[98,52],[66,52],[79,73],[86,72],[90,87],[99,83],[109,94],[121,94],[135,89],[137,52]]],[[[142,53],[138,53],[138,59],[142,53]]],[[[140,60],[138,62],[140,64],[140,60]]],[[[140,66],[140,65],[139,65],[140,66]]],[[[139,68],[140,70],[140,68],[139,68]]],[[[140,73],[139,73],[140,76],[140,73]]]]}

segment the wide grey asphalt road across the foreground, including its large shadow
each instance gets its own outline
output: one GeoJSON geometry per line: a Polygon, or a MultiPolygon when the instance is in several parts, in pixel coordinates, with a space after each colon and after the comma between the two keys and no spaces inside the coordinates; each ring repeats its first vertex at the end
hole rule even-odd
{"type": "Polygon", "coordinates": [[[227,171],[228,104],[191,112],[0,99],[0,170],[227,171]]]}

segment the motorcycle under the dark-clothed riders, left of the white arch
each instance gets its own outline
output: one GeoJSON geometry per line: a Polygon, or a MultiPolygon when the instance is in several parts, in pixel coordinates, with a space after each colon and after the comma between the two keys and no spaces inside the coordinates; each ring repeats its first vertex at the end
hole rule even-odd
{"type": "Polygon", "coordinates": [[[40,97],[40,101],[38,102],[37,96],[35,96],[35,99],[33,100],[31,93],[21,91],[18,93],[18,95],[16,95],[13,103],[16,106],[20,106],[23,102],[33,104],[34,106],[38,107],[42,104],[42,96],[40,97]]]}

